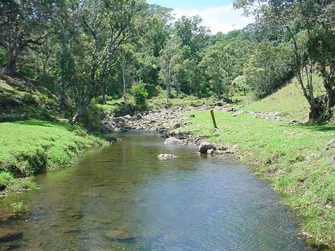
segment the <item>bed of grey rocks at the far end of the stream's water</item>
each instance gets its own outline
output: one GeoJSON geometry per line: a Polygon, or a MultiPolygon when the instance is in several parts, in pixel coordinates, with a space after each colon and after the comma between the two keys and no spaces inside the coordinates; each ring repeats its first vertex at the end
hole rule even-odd
{"type": "MultiPolygon", "coordinates": [[[[232,116],[241,114],[250,114],[259,119],[282,120],[279,113],[271,112],[249,112],[239,110],[232,105],[223,105],[218,103],[214,106],[202,107],[172,107],[156,111],[142,112],[126,116],[107,117],[103,121],[103,131],[105,133],[126,130],[147,130],[159,132],[165,138],[165,144],[181,144],[188,146],[199,146],[200,153],[207,154],[232,154],[238,156],[238,147],[228,144],[211,144],[206,142],[204,135],[193,135],[191,131],[185,129],[185,126],[191,124],[186,112],[214,109],[216,111],[230,112],[232,116]]],[[[191,114],[190,116],[195,116],[191,114]]]]}

